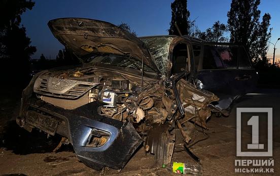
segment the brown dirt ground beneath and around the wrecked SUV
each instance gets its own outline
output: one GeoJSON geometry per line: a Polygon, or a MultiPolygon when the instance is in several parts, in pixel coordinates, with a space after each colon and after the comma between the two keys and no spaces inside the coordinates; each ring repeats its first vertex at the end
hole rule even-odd
{"type": "MultiPolygon", "coordinates": [[[[211,116],[207,122],[208,139],[190,148],[201,160],[203,175],[240,175],[234,172],[234,160],[252,158],[236,157],[236,107],[262,107],[266,101],[266,107],[275,109],[273,115],[276,118],[277,114],[280,114],[278,112],[280,105],[277,105],[279,95],[247,96],[241,103],[235,105],[229,117],[211,116]]],[[[167,169],[154,167],[153,155],[146,155],[143,147],[137,150],[120,172],[111,168],[95,171],[85,166],[76,158],[71,145],[63,146],[54,153],[52,150],[58,144],[59,137],[47,139],[46,134],[38,130],[28,133],[16,125],[15,118],[18,115],[19,103],[18,98],[2,99],[0,102],[0,175],[178,175],[170,173],[167,169]]],[[[278,124],[278,120],[273,123],[274,173],[266,173],[267,175],[280,174],[278,124]]],[[[205,137],[198,136],[201,139],[205,137]]],[[[244,133],[242,137],[251,139],[248,133],[244,133]]],[[[261,159],[269,159],[269,157],[261,159]]],[[[174,153],[172,160],[194,162],[185,151],[174,153]]]]}

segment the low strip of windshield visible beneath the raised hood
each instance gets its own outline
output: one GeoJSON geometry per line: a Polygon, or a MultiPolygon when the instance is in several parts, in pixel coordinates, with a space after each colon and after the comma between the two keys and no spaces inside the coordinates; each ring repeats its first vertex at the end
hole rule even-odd
{"type": "MultiPolygon", "coordinates": [[[[142,68],[142,62],[124,56],[102,55],[102,56],[91,56],[89,59],[91,60],[90,63],[93,64],[99,63],[105,65],[114,65],[117,67],[133,68],[137,70],[141,70],[142,68]]],[[[150,67],[146,65],[144,65],[144,70],[154,72],[150,67]]]]}

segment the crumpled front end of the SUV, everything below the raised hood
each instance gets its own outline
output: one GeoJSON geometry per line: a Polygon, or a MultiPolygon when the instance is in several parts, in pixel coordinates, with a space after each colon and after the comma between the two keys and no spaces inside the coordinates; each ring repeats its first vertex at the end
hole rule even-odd
{"type": "Polygon", "coordinates": [[[146,152],[162,165],[171,161],[176,129],[189,144],[187,123],[206,128],[209,105],[219,100],[182,76],[146,79],[142,87],[141,76],[98,67],[41,72],[23,91],[17,123],[67,138],[94,169],[123,168],[144,141],[146,152]]]}

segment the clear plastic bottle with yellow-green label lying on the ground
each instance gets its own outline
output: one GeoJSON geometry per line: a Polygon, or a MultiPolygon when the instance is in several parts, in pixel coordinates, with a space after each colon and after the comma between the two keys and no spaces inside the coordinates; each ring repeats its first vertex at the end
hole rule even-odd
{"type": "Polygon", "coordinates": [[[166,168],[170,172],[173,173],[180,173],[180,174],[200,174],[201,173],[201,166],[199,164],[192,164],[190,162],[182,163],[182,162],[173,162],[172,166],[162,164],[163,168],[166,168]]]}

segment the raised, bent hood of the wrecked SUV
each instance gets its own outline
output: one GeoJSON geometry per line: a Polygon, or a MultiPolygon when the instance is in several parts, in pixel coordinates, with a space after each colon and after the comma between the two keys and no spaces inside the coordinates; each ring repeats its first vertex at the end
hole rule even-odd
{"type": "Polygon", "coordinates": [[[83,61],[90,54],[130,56],[159,73],[144,43],[131,33],[104,21],[60,18],[48,23],[54,36],[83,61]]]}

